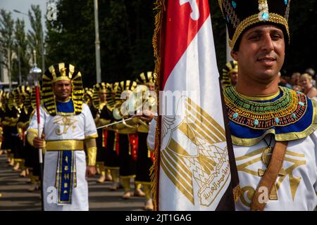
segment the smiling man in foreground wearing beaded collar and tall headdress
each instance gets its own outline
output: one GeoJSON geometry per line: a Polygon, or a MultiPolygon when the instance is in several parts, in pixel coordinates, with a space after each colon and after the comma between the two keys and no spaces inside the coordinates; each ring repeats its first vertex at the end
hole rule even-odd
{"type": "Polygon", "coordinates": [[[223,91],[242,195],[236,210],[314,210],[316,102],[278,86],[290,44],[290,0],[219,1],[237,60],[223,91]]]}

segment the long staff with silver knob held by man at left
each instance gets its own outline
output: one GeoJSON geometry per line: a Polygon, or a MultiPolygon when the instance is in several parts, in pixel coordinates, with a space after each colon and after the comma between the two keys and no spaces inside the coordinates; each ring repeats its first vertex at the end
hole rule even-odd
{"type": "MultiPolygon", "coordinates": [[[[40,117],[39,117],[39,75],[42,75],[42,70],[37,68],[37,64],[35,63],[33,68],[30,70],[30,74],[34,78],[35,84],[35,95],[37,101],[37,134],[39,138],[42,136],[40,131],[40,117]]],[[[41,179],[41,209],[44,211],[44,195],[43,195],[43,151],[42,148],[39,148],[39,177],[41,179]]]]}

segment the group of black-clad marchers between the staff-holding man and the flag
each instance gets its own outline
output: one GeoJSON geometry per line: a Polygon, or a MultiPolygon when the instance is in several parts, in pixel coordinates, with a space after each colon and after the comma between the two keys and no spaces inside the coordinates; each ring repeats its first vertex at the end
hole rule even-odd
{"type": "Polygon", "coordinates": [[[156,110],[155,84],[153,72],[142,72],[136,81],[95,84],[93,89],[85,89],[84,97],[99,136],[98,182],[112,181],[111,191],[122,184],[123,198],[129,199],[130,182],[134,180],[133,195],[146,197],[145,210],[153,210],[149,169],[154,159],[147,147],[149,123],[138,115],[156,110]]]}

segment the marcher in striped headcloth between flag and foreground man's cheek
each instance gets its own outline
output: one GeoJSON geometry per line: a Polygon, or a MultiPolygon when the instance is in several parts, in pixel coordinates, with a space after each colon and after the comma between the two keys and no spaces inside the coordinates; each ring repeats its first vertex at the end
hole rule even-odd
{"type": "Polygon", "coordinates": [[[237,79],[237,61],[230,60],[228,63],[225,63],[225,67],[223,68],[223,77],[221,78],[223,89],[226,89],[228,86],[235,86],[237,79]]]}

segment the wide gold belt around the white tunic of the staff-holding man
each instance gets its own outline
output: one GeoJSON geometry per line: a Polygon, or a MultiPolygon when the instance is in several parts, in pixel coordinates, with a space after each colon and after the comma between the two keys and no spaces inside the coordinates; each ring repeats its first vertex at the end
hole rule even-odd
{"type": "Polygon", "coordinates": [[[84,141],[81,140],[61,140],[46,141],[47,150],[84,150],[84,141]]]}

